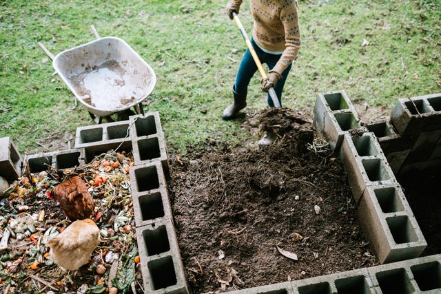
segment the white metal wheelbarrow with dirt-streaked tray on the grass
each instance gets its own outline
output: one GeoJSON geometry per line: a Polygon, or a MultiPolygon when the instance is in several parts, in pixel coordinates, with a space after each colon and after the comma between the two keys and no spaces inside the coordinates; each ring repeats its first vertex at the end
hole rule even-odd
{"type": "Polygon", "coordinates": [[[137,114],[143,114],[141,103],[156,84],[152,67],[122,39],[101,38],[93,25],[90,28],[96,40],[57,56],[42,43],[39,46],[95,123],[101,123],[103,117],[112,120],[112,114],[123,113],[131,107],[137,114]]]}

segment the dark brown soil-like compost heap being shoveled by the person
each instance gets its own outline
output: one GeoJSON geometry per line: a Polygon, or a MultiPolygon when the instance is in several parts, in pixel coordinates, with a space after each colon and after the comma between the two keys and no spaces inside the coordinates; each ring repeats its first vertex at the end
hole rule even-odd
{"type": "Polygon", "coordinates": [[[176,234],[194,293],[220,293],[378,264],[338,158],[292,109],[245,127],[268,147],[209,142],[170,169],[176,234]],[[251,126],[251,127],[250,127],[251,126]]]}

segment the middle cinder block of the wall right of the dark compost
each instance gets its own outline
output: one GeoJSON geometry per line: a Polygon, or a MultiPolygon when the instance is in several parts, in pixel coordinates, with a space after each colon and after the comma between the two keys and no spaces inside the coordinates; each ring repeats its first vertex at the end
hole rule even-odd
{"type": "Polygon", "coordinates": [[[353,198],[358,202],[366,187],[398,184],[373,133],[345,134],[340,159],[348,175],[353,198]]]}

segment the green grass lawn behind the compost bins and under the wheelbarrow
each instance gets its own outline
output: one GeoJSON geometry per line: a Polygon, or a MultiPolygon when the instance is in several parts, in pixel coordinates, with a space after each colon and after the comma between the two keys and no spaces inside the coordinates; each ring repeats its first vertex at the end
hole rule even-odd
{"type": "MultiPolygon", "coordinates": [[[[205,140],[238,144],[243,120],[223,121],[240,56],[240,32],[213,1],[17,1],[0,3],[0,137],[25,154],[91,125],[85,107],[54,74],[52,54],[118,36],[154,69],[145,111],[158,111],[170,152],[205,140]]],[[[439,1],[299,1],[302,48],[285,86],[285,107],[312,110],[319,92],[345,90],[355,104],[391,109],[398,98],[441,92],[439,1]],[[366,41],[364,41],[366,40],[366,41]],[[365,42],[365,45],[363,45],[365,42]]],[[[240,19],[251,35],[249,1],[240,19]]],[[[259,76],[247,111],[266,107],[259,76]]],[[[52,151],[52,150],[51,150],[52,151]]]]}

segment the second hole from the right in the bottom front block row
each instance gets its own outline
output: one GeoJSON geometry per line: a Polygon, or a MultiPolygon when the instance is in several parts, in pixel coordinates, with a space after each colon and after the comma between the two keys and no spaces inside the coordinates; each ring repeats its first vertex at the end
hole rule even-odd
{"type": "Polygon", "coordinates": [[[393,269],[376,273],[383,294],[413,293],[414,289],[404,269],[393,269]]]}

